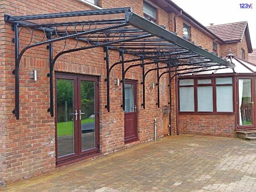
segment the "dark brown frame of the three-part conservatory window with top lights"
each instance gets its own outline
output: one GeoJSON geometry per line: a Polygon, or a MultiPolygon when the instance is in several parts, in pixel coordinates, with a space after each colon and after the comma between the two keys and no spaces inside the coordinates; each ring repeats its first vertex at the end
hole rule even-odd
{"type": "Polygon", "coordinates": [[[178,101],[179,101],[179,87],[189,87],[189,86],[179,86],[179,80],[182,79],[194,79],[194,105],[195,111],[180,111],[180,103],[178,103],[179,114],[235,114],[236,105],[235,103],[235,77],[234,76],[223,76],[223,75],[216,75],[216,76],[188,76],[188,77],[179,77],[178,79],[178,101]],[[216,84],[216,78],[225,78],[230,77],[232,78],[232,84],[216,84]],[[198,80],[203,79],[211,79],[211,83],[208,84],[198,84],[198,80]],[[198,86],[212,86],[213,92],[213,111],[198,111],[198,102],[197,102],[197,87],[198,86]],[[217,101],[216,101],[216,86],[232,86],[233,87],[233,112],[230,111],[217,111],[217,101]]]}

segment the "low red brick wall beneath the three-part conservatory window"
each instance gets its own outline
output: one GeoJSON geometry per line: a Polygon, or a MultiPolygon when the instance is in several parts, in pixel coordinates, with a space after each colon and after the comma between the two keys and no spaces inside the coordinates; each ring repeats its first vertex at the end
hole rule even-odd
{"type": "Polygon", "coordinates": [[[235,115],[179,114],[179,133],[235,136],[235,115]]]}

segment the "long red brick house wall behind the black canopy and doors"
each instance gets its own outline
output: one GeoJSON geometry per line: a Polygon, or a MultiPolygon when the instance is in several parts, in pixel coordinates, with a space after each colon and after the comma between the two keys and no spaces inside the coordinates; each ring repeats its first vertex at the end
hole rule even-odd
{"type": "MultiPolygon", "coordinates": [[[[134,12],[142,15],[142,0],[134,1],[103,1],[103,8],[124,7],[132,5],[134,12]]],[[[49,72],[48,51],[46,45],[32,48],[24,54],[20,62],[20,120],[12,114],[15,105],[14,86],[14,32],[9,23],[4,22],[4,13],[11,15],[31,15],[56,13],[77,10],[91,10],[91,7],[77,1],[23,1],[3,0],[0,2],[0,185],[34,177],[42,173],[56,170],[55,162],[55,123],[47,109],[49,103],[49,72]],[[39,54],[40,53],[40,54],[39,54]],[[38,81],[29,78],[32,70],[38,71],[38,81]]],[[[168,28],[167,13],[158,10],[159,25],[168,28]]],[[[100,18],[97,18],[100,19],[100,18]]],[[[20,43],[26,42],[26,33],[20,33],[20,43]],[[25,35],[24,35],[25,34],[25,35]]],[[[40,39],[42,34],[36,33],[40,39]]],[[[72,40],[67,45],[75,45],[72,40]]],[[[64,42],[54,44],[55,50],[61,50],[64,42]]],[[[54,53],[55,54],[55,53],[54,53]]],[[[160,108],[156,106],[157,88],[152,89],[151,83],[156,82],[156,71],[150,72],[146,78],[146,109],[142,103],[142,70],[132,68],[127,73],[128,79],[138,81],[138,137],[139,141],[124,144],[124,113],[122,103],[122,86],[115,86],[114,81],[121,77],[121,68],[116,66],[110,78],[111,111],[107,112],[106,105],[106,61],[102,47],[87,51],[79,51],[62,55],[56,62],[55,71],[72,72],[99,76],[100,101],[100,152],[108,154],[131,147],[135,144],[151,141],[154,138],[154,118],[157,119],[157,136],[169,133],[169,117],[163,116],[162,106],[168,105],[169,89],[168,75],[160,81],[160,108]]],[[[111,60],[117,61],[117,52],[111,53],[111,60]]],[[[129,66],[130,64],[126,64],[129,66]]],[[[160,64],[161,65],[161,64],[160,64]]],[[[146,66],[146,70],[152,66],[146,66]]],[[[160,71],[161,72],[161,71],[160,71]]],[[[59,168],[58,168],[59,169],[59,168]]]]}

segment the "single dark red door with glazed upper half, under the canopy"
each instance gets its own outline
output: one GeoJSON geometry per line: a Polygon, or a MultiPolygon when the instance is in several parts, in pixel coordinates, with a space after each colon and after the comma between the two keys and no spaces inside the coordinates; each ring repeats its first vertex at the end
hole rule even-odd
{"type": "Polygon", "coordinates": [[[137,81],[125,80],[124,141],[138,140],[137,81]]]}

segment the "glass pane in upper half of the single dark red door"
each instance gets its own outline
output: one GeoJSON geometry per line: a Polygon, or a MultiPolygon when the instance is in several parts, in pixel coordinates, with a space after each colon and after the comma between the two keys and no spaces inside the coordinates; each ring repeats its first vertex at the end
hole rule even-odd
{"type": "Polygon", "coordinates": [[[134,100],[133,100],[133,85],[124,84],[125,88],[125,110],[124,112],[133,112],[134,111],[134,100]]]}

